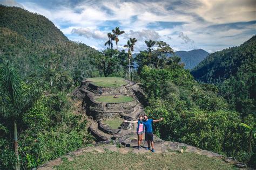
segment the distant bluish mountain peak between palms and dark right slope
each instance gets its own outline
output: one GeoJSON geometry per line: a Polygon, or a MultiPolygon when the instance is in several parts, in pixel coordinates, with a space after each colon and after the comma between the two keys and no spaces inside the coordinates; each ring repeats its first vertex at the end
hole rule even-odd
{"type": "Polygon", "coordinates": [[[185,68],[193,69],[199,62],[204,60],[209,55],[204,49],[193,49],[191,51],[177,51],[175,52],[181,58],[181,62],[185,63],[185,68]]]}

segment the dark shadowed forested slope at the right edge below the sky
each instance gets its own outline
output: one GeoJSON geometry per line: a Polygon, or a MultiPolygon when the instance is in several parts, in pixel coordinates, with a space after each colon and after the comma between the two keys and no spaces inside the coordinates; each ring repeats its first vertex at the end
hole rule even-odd
{"type": "Polygon", "coordinates": [[[233,109],[255,114],[255,47],[253,36],[239,47],[208,55],[191,73],[198,81],[216,84],[233,109]]]}

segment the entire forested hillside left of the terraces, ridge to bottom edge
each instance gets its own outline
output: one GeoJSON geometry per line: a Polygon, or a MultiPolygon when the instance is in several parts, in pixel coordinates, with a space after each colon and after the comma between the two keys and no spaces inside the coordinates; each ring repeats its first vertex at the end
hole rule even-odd
{"type": "Polygon", "coordinates": [[[12,169],[17,162],[15,132],[22,168],[92,142],[68,94],[83,77],[100,76],[93,58],[99,54],[69,41],[44,16],[0,6],[0,169],[12,169]]]}

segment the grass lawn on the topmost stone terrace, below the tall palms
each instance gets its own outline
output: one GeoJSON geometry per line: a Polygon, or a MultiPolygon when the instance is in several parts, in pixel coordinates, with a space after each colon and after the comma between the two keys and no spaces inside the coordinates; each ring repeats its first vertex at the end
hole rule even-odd
{"type": "Polygon", "coordinates": [[[120,87],[128,84],[122,77],[94,77],[87,80],[98,87],[120,87]]]}

